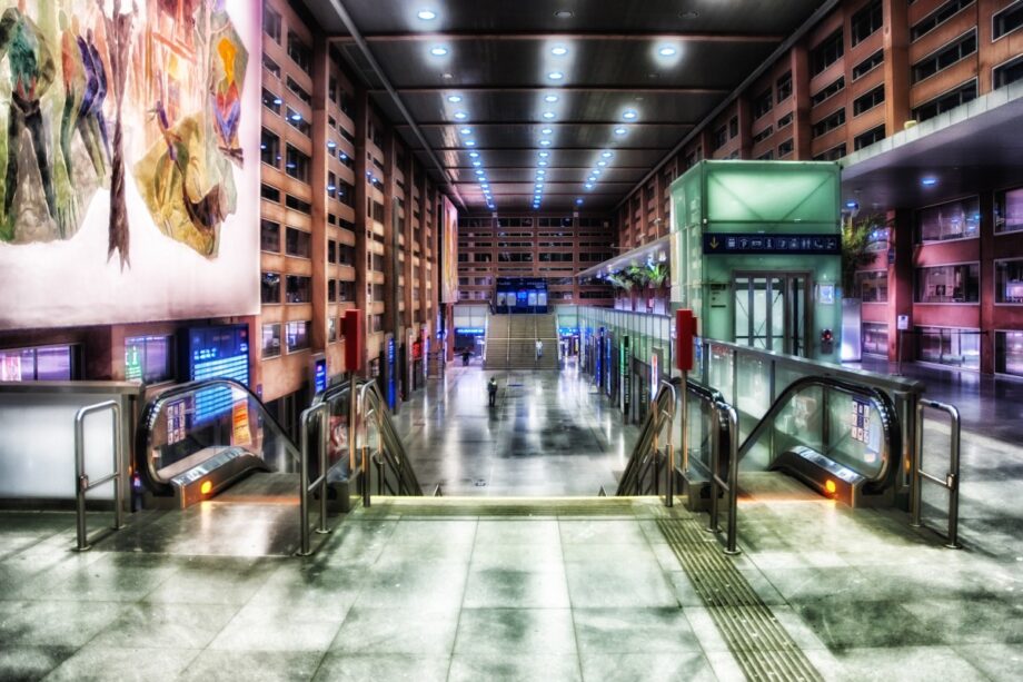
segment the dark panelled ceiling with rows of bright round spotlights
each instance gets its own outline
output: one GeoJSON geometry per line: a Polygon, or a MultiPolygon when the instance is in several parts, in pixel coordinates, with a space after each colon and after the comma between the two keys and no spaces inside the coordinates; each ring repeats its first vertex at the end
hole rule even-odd
{"type": "Polygon", "coordinates": [[[613,208],[820,4],[305,0],[469,211],[613,208]]]}

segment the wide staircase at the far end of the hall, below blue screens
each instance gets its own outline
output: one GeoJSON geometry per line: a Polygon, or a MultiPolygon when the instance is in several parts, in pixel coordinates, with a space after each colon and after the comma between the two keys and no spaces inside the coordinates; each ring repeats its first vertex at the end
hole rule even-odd
{"type": "Polygon", "coordinates": [[[557,317],[547,315],[491,315],[487,324],[486,369],[557,369],[557,317]],[[544,355],[536,357],[536,342],[544,355]]]}

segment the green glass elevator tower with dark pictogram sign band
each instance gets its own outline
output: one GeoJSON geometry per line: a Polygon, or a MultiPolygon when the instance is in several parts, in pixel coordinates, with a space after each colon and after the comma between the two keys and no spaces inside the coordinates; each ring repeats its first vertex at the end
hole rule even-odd
{"type": "Polygon", "coordinates": [[[672,184],[672,304],[717,340],[837,363],[838,165],[701,161],[672,184]]]}

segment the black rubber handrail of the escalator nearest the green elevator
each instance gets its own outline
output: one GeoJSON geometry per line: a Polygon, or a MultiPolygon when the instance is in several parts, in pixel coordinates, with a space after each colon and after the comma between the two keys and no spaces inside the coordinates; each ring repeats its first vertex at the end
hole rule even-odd
{"type": "MultiPolygon", "coordinates": [[[[881,415],[881,427],[884,433],[885,452],[881,458],[881,470],[875,476],[867,477],[867,483],[880,483],[882,484],[882,487],[887,487],[891,483],[894,482],[898,471],[898,467],[893,465],[893,459],[898,457],[902,453],[902,431],[897,427],[898,413],[895,409],[895,405],[892,403],[892,398],[888,397],[888,395],[880,388],[838,379],[827,375],[804,376],[786,386],[785,389],[778,394],[778,397],[775,398],[774,403],[772,403],[771,407],[766,413],[764,413],[764,416],[761,417],[756,426],[753,427],[753,431],[749,432],[749,435],[746,436],[742,445],[738,447],[739,461],[746,456],[746,453],[749,452],[749,448],[753,447],[759,437],[764,435],[764,432],[769,425],[774,423],[774,419],[777,418],[778,414],[781,414],[781,412],[788,405],[789,401],[796,394],[813,386],[821,386],[826,389],[838,391],[854,396],[861,396],[872,402],[873,406],[881,415]]],[[[827,415],[822,415],[822,418],[827,418],[827,415]]],[[[860,472],[856,473],[860,474],[860,472]]]]}

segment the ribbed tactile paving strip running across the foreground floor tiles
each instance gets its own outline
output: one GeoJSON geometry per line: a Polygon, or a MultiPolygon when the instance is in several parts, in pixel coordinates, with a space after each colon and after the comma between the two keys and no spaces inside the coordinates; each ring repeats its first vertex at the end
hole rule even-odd
{"type": "Polygon", "coordinates": [[[824,679],[695,518],[657,525],[747,679],[824,679]]]}

